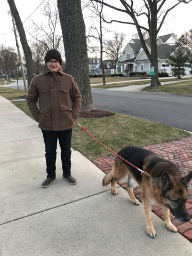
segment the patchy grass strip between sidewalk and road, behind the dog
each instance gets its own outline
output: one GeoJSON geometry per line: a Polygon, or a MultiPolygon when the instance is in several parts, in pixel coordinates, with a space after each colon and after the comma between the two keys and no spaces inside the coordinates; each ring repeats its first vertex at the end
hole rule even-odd
{"type": "MultiPolygon", "coordinates": [[[[77,118],[77,122],[115,152],[127,146],[143,147],[190,137],[190,133],[173,126],[122,114],[101,118],[77,118]]],[[[71,146],[90,160],[112,155],[76,124],[71,146]]]]}

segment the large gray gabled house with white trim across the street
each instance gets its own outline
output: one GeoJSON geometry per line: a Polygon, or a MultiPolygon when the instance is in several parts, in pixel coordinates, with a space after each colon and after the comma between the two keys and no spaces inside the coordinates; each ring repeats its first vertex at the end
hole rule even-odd
{"type": "MultiPolygon", "coordinates": [[[[145,40],[150,52],[150,40],[145,40]]],[[[177,36],[173,34],[157,37],[157,54],[159,73],[167,72],[171,75],[171,66],[166,63],[167,55],[177,49],[177,36]]],[[[116,73],[129,75],[131,72],[146,72],[150,74],[151,64],[139,39],[131,39],[116,63],[116,73]]]]}

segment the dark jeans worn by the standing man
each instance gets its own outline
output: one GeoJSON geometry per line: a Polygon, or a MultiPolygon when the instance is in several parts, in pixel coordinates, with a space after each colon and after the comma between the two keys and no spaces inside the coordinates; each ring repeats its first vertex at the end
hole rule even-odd
{"type": "Polygon", "coordinates": [[[67,177],[71,174],[71,135],[72,129],[65,131],[45,131],[42,130],[43,138],[45,142],[45,159],[46,159],[46,172],[47,178],[55,177],[56,170],[56,155],[57,155],[57,142],[59,139],[59,145],[61,148],[61,162],[63,176],[67,177]]]}

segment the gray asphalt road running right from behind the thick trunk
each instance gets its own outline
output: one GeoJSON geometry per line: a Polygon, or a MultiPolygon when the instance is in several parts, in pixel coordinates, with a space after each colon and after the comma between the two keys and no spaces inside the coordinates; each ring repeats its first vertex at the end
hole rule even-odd
{"type": "Polygon", "coordinates": [[[192,98],[184,95],[92,88],[94,106],[192,131],[192,98]]]}

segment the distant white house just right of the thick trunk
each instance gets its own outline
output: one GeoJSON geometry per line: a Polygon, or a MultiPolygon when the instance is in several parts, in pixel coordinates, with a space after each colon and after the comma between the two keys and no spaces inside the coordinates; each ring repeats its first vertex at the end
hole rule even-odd
{"type": "MultiPolygon", "coordinates": [[[[115,74],[115,65],[113,60],[104,60],[105,75],[115,74]]],[[[102,75],[101,60],[98,58],[89,58],[90,75],[102,75]]]]}

